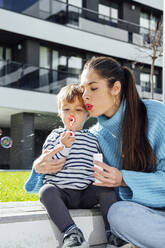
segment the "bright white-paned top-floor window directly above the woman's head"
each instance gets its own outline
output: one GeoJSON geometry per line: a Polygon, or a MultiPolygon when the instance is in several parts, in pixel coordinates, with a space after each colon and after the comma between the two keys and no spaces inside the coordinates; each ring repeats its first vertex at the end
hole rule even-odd
{"type": "Polygon", "coordinates": [[[99,4],[98,11],[99,11],[99,18],[104,20],[110,20],[111,22],[114,23],[118,22],[118,8],[99,4]]]}

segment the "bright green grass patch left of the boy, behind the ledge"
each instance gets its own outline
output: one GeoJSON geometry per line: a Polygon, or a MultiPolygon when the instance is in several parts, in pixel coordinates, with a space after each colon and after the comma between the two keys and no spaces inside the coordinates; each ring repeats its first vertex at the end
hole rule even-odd
{"type": "Polygon", "coordinates": [[[0,202],[36,201],[38,195],[28,194],[23,186],[30,171],[0,172],[0,202]]]}

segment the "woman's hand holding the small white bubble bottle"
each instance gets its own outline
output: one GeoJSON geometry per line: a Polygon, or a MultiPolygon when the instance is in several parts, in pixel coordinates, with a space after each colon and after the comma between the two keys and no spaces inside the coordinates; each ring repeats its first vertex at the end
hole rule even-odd
{"type": "Polygon", "coordinates": [[[120,170],[99,161],[94,161],[94,165],[100,167],[100,169],[93,167],[94,177],[100,181],[94,185],[103,187],[127,186],[120,170]]]}

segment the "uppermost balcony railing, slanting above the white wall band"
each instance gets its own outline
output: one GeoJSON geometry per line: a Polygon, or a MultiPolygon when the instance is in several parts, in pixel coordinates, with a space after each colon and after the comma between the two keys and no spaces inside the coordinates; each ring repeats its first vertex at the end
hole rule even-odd
{"type": "Polygon", "coordinates": [[[34,4],[24,1],[19,8],[13,5],[12,0],[5,2],[0,5],[1,8],[140,46],[149,44],[150,30],[146,28],[59,0],[39,0],[34,4]]]}

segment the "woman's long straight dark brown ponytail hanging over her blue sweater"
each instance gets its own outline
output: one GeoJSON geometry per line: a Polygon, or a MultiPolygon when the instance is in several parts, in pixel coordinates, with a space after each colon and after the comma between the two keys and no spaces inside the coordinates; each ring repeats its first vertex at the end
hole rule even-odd
{"type": "Polygon", "coordinates": [[[123,94],[126,98],[122,129],[123,169],[154,171],[156,160],[147,139],[147,110],[139,97],[131,70],[127,67],[123,67],[123,70],[123,94]]]}

